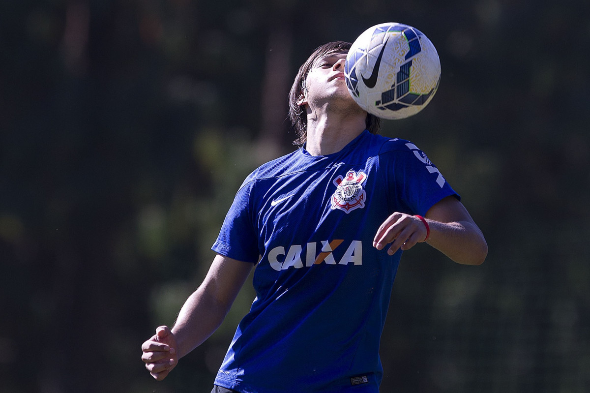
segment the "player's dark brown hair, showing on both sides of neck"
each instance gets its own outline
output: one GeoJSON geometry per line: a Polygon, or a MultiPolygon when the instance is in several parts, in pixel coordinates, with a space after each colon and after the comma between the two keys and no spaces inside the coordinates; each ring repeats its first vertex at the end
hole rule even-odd
{"type": "MultiPolygon", "coordinates": [[[[297,133],[297,138],[293,141],[294,145],[302,145],[307,139],[307,113],[304,107],[297,103],[304,94],[304,83],[307,79],[307,74],[309,74],[314,62],[318,58],[333,53],[348,53],[350,46],[352,46],[352,44],[345,41],[328,42],[327,44],[317,47],[306,62],[299,67],[299,71],[297,72],[297,76],[295,77],[295,81],[289,92],[289,119],[291,119],[293,128],[297,133]]],[[[381,130],[381,120],[378,117],[373,116],[371,113],[367,113],[365,127],[373,134],[376,134],[381,130]]]]}

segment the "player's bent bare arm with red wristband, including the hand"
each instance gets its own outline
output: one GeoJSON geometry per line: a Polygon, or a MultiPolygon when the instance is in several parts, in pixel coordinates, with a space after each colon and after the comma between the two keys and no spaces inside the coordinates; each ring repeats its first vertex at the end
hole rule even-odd
{"type": "Polygon", "coordinates": [[[454,196],[447,196],[434,204],[425,214],[430,228],[420,218],[395,212],[379,227],[373,246],[381,250],[387,244],[388,253],[400,248],[409,250],[417,243],[427,241],[451,260],[468,265],[479,265],[487,256],[487,243],[480,228],[467,209],[454,196]]]}

